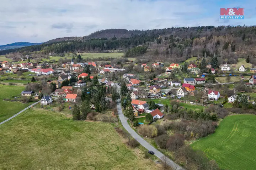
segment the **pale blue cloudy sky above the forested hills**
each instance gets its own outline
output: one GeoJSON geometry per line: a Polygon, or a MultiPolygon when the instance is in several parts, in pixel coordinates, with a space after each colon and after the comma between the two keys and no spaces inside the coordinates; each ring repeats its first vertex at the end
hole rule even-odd
{"type": "Polygon", "coordinates": [[[111,28],[255,25],[255,0],[1,0],[0,45],[46,42],[111,28]],[[219,19],[220,7],[245,19],[219,19]]]}

